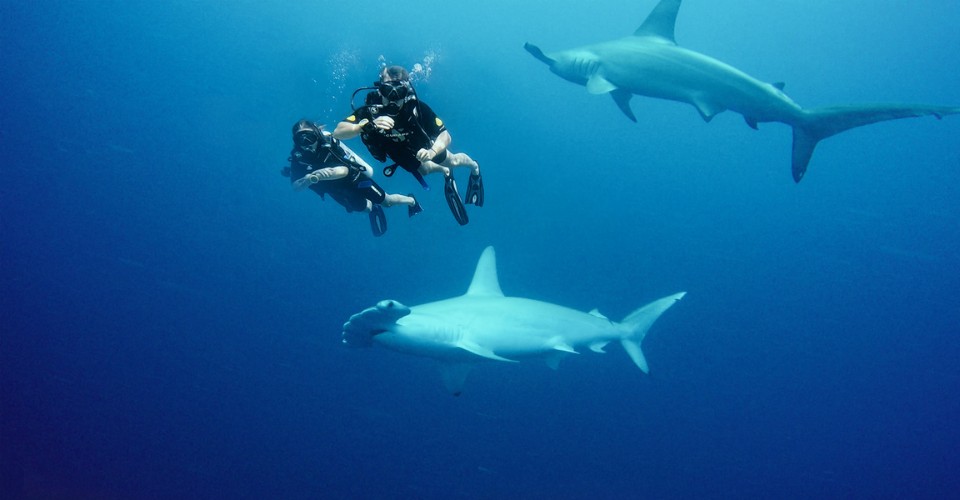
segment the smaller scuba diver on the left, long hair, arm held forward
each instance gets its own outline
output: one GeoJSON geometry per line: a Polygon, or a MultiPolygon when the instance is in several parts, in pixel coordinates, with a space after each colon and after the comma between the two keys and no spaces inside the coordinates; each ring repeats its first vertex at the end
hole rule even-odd
{"type": "Polygon", "coordinates": [[[294,190],[310,188],[321,198],[330,195],[347,212],[369,212],[374,236],[387,231],[382,207],[406,205],[409,217],[423,211],[413,195],[387,194],[373,181],[373,168],[322,125],[308,120],[293,125],[293,150],[288,160],[290,166],[281,173],[290,177],[294,190]]]}

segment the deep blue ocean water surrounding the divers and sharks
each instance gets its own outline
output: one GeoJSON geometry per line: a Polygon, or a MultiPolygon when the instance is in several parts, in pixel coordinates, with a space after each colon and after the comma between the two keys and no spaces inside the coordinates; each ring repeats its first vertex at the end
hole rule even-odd
{"type": "MultiPolygon", "coordinates": [[[[645,98],[635,124],[523,50],[654,4],[0,2],[0,496],[955,496],[960,119],[846,132],[794,184],[783,125],[645,98]],[[468,226],[436,179],[380,178],[425,212],[373,238],[279,175],[380,58],[429,70],[481,162],[468,226]],[[430,360],[340,345],[381,299],[462,293],[487,245],[508,295],[613,319],[686,290],[651,374],[611,346],[454,398],[430,360]]],[[[676,34],[803,106],[960,105],[958,20],[689,0],[676,34]]]]}

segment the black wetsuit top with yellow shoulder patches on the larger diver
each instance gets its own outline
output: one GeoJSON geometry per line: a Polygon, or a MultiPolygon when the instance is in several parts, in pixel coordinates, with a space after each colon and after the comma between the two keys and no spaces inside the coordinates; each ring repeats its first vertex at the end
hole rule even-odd
{"type": "MultiPolygon", "coordinates": [[[[366,104],[344,121],[357,123],[367,119],[373,122],[378,116],[393,118],[394,126],[391,130],[381,131],[371,123],[365,127],[366,130],[360,132],[360,139],[377,161],[385,162],[389,156],[404,170],[416,172],[420,168],[417,151],[430,149],[437,136],[447,128],[430,106],[418,99],[405,102],[396,115],[386,112],[387,108],[379,105],[381,102],[379,93],[370,92],[366,104]]],[[[446,157],[447,152],[443,151],[434,157],[433,161],[441,163],[446,157]]]]}

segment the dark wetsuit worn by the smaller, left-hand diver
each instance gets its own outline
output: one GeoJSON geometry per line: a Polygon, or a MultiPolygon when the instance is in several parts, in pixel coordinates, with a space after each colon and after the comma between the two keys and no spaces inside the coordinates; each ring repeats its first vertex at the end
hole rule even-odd
{"type": "Polygon", "coordinates": [[[350,173],[340,179],[311,184],[310,189],[320,195],[329,194],[337,203],[343,205],[347,212],[362,212],[367,209],[367,200],[375,205],[383,203],[386,198],[383,188],[373,179],[363,174],[363,165],[351,160],[351,154],[340,147],[340,141],[324,134],[327,140],[332,141],[329,147],[322,143],[317,144],[316,151],[301,149],[294,146],[290,152],[290,182],[302,179],[305,175],[329,167],[347,167],[350,173]]]}

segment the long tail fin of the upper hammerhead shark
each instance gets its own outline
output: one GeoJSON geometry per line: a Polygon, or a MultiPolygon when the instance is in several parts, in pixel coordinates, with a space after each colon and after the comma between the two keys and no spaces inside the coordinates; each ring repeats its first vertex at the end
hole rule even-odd
{"type": "Polygon", "coordinates": [[[918,116],[935,116],[960,113],[960,108],[948,106],[914,106],[909,104],[878,104],[864,106],[833,106],[803,110],[803,119],[793,125],[793,180],[800,182],[807,173],[807,165],[817,143],[839,134],[871,123],[918,116]]]}

